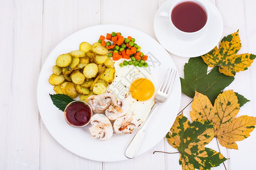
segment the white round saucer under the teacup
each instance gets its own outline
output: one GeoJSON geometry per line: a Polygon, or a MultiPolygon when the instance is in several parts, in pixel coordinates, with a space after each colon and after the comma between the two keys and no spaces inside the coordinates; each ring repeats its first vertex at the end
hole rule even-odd
{"type": "Polygon", "coordinates": [[[161,11],[167,11],[177,0],[169,0],[160,6],[154,20],[155,35],[160,44],[168,52],[180,57],[198,57],[212,50],[220,41],[223,31],[223,21],[220,12],[211,2],[199,0],[209,12],[209,27],[200,39],[184,41],[178,39],[170,27],[167,19],[159,16],[161,11]]]}

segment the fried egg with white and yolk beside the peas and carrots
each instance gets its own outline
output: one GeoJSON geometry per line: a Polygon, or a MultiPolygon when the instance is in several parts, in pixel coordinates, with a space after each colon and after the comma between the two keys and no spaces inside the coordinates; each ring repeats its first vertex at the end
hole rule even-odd
{"type": "Polygon", "coordinates": [[[115,79],[109,85],[108,91],[117,99],[127,101],[129,109],[126,115],[134,114],[144,122],[154,104],[154,80],[148,67],[133,65],[120,67],[119,63],[124,60],[115,61],[115,79]]]}

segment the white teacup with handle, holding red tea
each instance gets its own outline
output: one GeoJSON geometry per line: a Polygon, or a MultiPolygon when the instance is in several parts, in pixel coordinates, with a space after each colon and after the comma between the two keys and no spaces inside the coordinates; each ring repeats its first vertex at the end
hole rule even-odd
{"type": "Polygon", "coordinates": [[[177,39],[181,39],[181,40],[184,40],[184,41],[197,40],[197,39],[200,39],[200,37],[202,37],[204,35],[204,33],[206,32],[206,30],[208,29],[209,12],[208,12],[207,8],[203,5],[202,2],[197,1],[197,0],[178,0],[172,6],[168,7],[167,11],[161,11],[159,13],[159,15],[162,16],[164,19],[168,18],[168,20],[170,22],[171,31],[174,32],[177,39]],[[207,22],[205,23],[203,28],[199,29],[199,31],[184,32],[184,31],[181,31],[180,29],[178,29],[177,27],[175,27],[174,23],[172,23],[172,19],[171,19],[172,10],[177,5],[179,5],[180,3],[183,3],[183,2],[195,2],[195,3],[197,3],[198,5],[200,5],[201,7],[204,8],[204,10],[207,14],[207,22]]]}

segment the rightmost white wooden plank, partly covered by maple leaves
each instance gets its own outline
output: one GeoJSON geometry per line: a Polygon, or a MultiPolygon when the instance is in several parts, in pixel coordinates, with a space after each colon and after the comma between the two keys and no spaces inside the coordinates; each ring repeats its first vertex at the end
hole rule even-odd
{"type": "MultiPolygon", "coordinates": [[[[256,39],[256,22],[254,9],[256,2],[249,1],[217,1],[218,8],[221,11],[224,20],[224,35],[233,33],[239,29],[239,34],[242,42],[242,48],[238,54],[253,53],[255,50],[256,39]]],[[[256,116],[255,97],[256,97],[256,65],[255,61],[248,70],[237,73],[234,82],[228,87],[234,91],[244,95],[247,99],[251,100],[245,104],[241,109],[238,116],[249,115],[256,116]]],[[[255,140],[256,131],[250,133],[251,136],[244,141],[237,142],[238,150],[229,150],[230,154],[230,169],[253,169],[255,167],[255,140]]]]}

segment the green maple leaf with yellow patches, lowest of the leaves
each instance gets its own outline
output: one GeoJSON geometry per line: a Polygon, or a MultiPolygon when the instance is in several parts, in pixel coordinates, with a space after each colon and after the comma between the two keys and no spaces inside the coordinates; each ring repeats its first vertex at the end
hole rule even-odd
{"type": "Polygon", "coordinates": [[[179,150],[182,169],[210,169],[226,160],[219,152],[204,147],[214,138],[213,125],[209,121],[197,119],[190,123],[180,114],[166,138],[179,150]]]}

